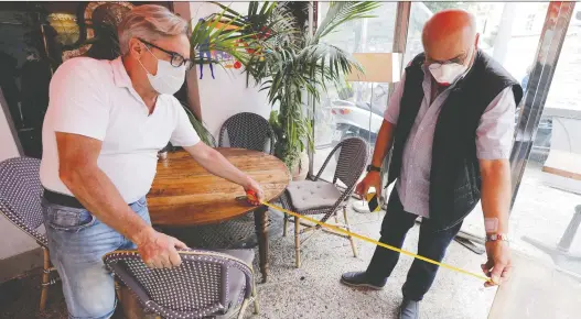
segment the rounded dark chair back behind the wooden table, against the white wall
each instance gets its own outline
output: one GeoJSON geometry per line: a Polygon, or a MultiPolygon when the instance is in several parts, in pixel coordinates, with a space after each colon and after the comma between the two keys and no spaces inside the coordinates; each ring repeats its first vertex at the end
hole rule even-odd
{"type": "Polygon", "coordinates": [[[230,117],[219,130],[218,146],[225,146],[228,136],[229,147],[254,150],[272,154],[275,152],[275,132],[270,123],[259,114],[241,112],[230,117]],[[268,143],[268,144],[267,144],[268,143]],[[270,150],[266,150],[269,145],[270,150]]]}

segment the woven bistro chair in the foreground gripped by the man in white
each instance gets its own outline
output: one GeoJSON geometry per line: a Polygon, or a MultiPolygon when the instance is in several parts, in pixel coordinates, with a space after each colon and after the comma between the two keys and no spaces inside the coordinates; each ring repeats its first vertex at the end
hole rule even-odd
{"type": "Polygon", "coordinates": [[[251,250],[179,253],[182,264],[173,268],[149,268],[137,251],[116,251],[104,262],[146,312],[168,319],[243,318],[254,301],[258,314],[251,250]]]}

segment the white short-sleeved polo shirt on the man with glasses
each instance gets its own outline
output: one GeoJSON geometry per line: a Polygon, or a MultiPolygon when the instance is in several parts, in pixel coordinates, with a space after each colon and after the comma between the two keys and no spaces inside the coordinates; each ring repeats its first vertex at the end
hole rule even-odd
{"type": "Polygon", "coordinates": [[[55,132],[103,141],[97,165],[130,204],[149,193],[158,151],[200,142],[187,114],[173,96],[158,97],[152,114],[133,89],[121,58],[76,57],[54,74],[42,129],[41,183],[73,195],[58,177],[55,132]]]}

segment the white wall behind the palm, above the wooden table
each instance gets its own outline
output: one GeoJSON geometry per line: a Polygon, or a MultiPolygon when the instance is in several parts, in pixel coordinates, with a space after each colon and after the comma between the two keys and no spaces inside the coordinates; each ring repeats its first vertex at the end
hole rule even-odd
{"type": "MultiPolygon", "coordinates": [[[[222,2],[233,10],[246,13],[248,2],[222,2]]],[[[207,2],[190,2],[193,23],[212,13],[220,12],[220,8],[207,2]]],[[[176,8],[177,11],[177,8],[176,8]]],[[[200,75],[200,66],[195,66],[200,75]]],[[[252,112],[265,117],[270,116],[266,91],[259,92],[257,87],[246,87],[246,75],[238,70],[226,70],[214,65],[212,78],[209,66],[204,66],[204,77],[198,79],[202,118],[206,128],[214,136],[218,136],[219,128],[229,117],[239,112],[252,112]]]]}

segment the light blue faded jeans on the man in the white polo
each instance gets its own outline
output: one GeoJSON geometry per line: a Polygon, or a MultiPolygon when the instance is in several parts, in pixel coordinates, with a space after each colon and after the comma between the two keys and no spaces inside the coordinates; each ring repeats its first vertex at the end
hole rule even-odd
{"type": "MultiPolygon", "coordinates": [[[[103,256],[136,245],[85,209],[43,199],[51,261],[63,283],[68,318],[109,318],[115,311],[115,280],[103,256]]],[[[129,205],[151,224],[146,197],[129,205]]]]}

